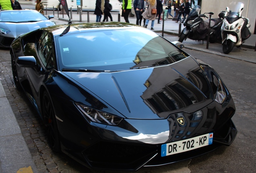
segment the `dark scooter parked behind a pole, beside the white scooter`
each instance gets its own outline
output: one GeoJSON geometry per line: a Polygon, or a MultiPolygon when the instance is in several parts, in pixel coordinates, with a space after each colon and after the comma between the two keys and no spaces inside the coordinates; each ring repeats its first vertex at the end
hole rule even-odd
{"type": "MultiPolygon", "coordinates": [[[[184,21],[185,28],[180,34],[179,42],[183,42],[187,38],[192,40],[206,40],[208,34],[209,20],[205,14],[213,15],[213,12],[200,14],[201,7],[196,5],[190,11],[188,17],[184,21]]],[[[219,14],[219,18],[211,19],[210,39],[209,42],[221,42],[221,25],[224,19],[224,13],[219,14]]]]}

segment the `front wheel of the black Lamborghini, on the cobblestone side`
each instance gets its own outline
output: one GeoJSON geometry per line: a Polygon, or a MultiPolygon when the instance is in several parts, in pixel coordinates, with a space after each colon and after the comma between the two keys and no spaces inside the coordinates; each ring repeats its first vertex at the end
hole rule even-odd
{"type": "Polygon", "coordinates": [[[46,91],[43,92],[42,97],[42,115],[49,146],[54,151],[60,152],[60,137],[57,127],[57,121],[55,118],[52,101],[46,91]]]}

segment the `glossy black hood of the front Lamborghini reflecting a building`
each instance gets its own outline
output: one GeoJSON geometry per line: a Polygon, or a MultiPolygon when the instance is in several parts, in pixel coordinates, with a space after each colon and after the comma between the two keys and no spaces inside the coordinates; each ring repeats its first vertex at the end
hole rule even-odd
{"type": "Polygon", "coordinates": [[[193,113],[213,101],[209,82],[191,57],[167,66],[64,74],[132,119],[164,119],[172,113],[193,113]]]}

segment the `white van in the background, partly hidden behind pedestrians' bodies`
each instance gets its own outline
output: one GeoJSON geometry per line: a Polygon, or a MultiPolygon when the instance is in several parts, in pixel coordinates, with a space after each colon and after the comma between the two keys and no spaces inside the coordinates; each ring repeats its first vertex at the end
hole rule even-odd
{"type": "MultiPolygon", "coordinates": [[[[83,1],[83,10],[91,10],[94,11],[95,10],[95,4],[96,4],[96,0],[79,0],[80,2],[83,1]]],[[[104,0],[101,0],[102,2],[104,2],[104,0]]],[[[35,5],[37,2],[37,0],[33,0],[33,4],[35,5]]],[[[42,0],[44,8],[59,8],[60,10],[62,9],[62,5],[60,4],[59,0],[42,0]]],[[[77,5],[76,5],[76,0],[66,0],[67,4],[68,4],[68,9],[72,8],[72,9],[77,9],[77,5]]],[[[112,11],[119,11],[122,4],[119,0],[111,0],[109,1],[109,4],[111,6],[112,11]]],[[[104,6],[103,6],[104,7],[104,6]]],[[[81,6],[78,6],[78,8],[81,8],[81,6]]]]}

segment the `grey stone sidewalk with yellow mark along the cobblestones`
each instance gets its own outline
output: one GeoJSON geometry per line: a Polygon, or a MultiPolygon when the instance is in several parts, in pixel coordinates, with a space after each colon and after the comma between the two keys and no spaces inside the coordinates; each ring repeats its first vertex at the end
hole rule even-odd
{"type": "Polygon", "coordinates": [[[0,173],[37,173],[0,81],[0,173]]]}

